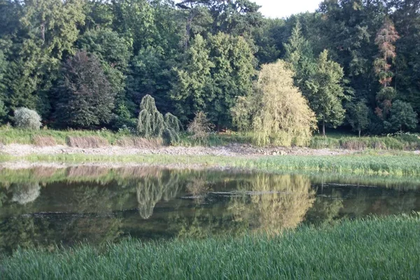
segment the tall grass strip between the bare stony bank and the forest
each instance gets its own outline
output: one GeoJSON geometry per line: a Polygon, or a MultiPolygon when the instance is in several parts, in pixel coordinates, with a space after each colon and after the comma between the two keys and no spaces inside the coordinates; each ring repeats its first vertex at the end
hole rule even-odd
{"type": "MultiPolygon", "coordinates": [[[[109,130],[18,130],[13,127],[0,127],[0,144],[33,144],[36,146],[50,146],[54,144],[69,144],[72,137],[97,137],[100,146],[150,146],[155,141],[139,141],[127,132],[111,132],[109,130]]],[[[179,146],[223,146],[232,143],[249,144],[252,135],[232,132],[230,134],[211,134],[205,141],[194,140],[187,134],[181,135],[179,146]]],[[[416,134],[400,134],[388,137],[356,137],[350,134],[330,134],[328,137],[314,136],[309,148],[344,148],[350,150],[398,150],[412,151],[420,149],[420,138],[416,134]]],[[[88,147],[81,147],[88,148],[88,147]]]]}

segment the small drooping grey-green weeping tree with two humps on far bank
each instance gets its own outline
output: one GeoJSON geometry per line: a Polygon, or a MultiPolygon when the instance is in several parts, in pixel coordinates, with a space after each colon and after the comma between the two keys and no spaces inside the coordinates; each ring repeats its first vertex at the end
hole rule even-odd
{"type": "Polygon", "coordinates": [[[146,95],[141,99],[137,132],[141,137],[163,138],[167,144],[179,141],[179,132],[182,130],[181,122],[172,113],[165,117],[158,111],[155,99],[146,95]]]}

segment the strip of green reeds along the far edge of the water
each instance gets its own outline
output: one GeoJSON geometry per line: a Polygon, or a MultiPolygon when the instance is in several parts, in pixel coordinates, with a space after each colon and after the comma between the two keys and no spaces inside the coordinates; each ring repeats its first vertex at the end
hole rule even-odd
{"type": "Polygon", "coordinates": [[[212,155],[27,155],[10,157],[0,155],[0,162],[27,160],[29,162],[133,163],[141,165],[176,165],[179,167],[222,167],[265,172],[334,172],[339,174],[366,174],[377,176],[419,176],[420,156],[410,153],[396,155],[281,155],[252,157],[212,155]]]}

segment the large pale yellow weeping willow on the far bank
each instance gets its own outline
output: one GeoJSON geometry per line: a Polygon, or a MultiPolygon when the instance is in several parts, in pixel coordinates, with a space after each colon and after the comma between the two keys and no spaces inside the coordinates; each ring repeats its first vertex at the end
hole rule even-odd
{"type": "Polygon", "coordinates": [[[293,76],[282,60],[265,64],[253,93],[238,97],[232,118],[239,130],[253,132],[255,144],[304,146],[316,130],[315,113],[293,85],[293,76]]]}

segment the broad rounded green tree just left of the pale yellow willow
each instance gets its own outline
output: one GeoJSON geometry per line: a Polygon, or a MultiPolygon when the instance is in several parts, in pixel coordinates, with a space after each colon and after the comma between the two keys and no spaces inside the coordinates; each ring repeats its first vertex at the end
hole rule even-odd
{"type": "Polygon", "coordinates": [[[207,111],[218,130],[232,125],[235,98],[252,90],[253,54],[244,38],[223,33],[204,40],[197,36],[187,52],[183,69],[176,70],[172,98],[183,120],[207,111]]]}

